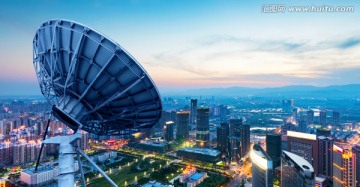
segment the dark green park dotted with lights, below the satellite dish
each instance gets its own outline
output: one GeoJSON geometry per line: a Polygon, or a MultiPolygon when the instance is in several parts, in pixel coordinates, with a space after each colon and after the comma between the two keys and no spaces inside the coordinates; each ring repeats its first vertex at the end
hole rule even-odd
{"type": "MultiPolygon", "coordinates": [[[[204,171],[208,173],[209,177],[201,183],[201,186],[219,186],[229,181],[229,177],[218,173],[213,164],[208,164],[209,166],[205,163],[200,164],[197,162],[170,164],[170,159],[164,155],[153,154],[153,156],[147,157],[149,156],[148,154],[136,149],[121,149],[118,151],[118,156],[123,157],[123,159],[119,162],[103,165],[102,168],[118,186],[139,187],[150,180],[169,184],[171,179],[182,173],[183,169],[187,166],[186,163],[202,166],[199,168],[199,172],[204,171]]],[[[99,177],[98,173],[87,174],[85,178],[89,178],[88,184],[90,186],[111,187],[110,183],[104,177],[99,177]]],[[[174,185],[179,187],[186,186],[186,184],[180,184],[176,180],[174,185]]]]}

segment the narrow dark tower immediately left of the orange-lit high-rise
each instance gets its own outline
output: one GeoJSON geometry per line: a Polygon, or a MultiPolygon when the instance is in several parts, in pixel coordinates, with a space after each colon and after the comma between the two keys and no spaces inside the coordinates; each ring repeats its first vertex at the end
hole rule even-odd
{"type": "Polygon", "coordinates": [[[326,176],[328,179],[333,175],[333,145],[334,139],[325,136],[318,137],[319,143],[319,174],[326,176]]]}

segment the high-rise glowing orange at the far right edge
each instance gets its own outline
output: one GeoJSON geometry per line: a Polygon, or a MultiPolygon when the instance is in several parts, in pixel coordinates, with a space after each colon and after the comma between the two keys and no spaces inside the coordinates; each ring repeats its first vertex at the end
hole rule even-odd
{"type": "Polygon", "coordinates": [[[333,187],[355,187],[356,155],[350,144],[334,144],[333,187]]]}

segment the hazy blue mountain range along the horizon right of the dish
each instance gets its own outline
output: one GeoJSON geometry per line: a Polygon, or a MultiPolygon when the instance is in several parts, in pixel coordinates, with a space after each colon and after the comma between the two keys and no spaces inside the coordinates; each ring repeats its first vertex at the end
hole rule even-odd
{"type": "Polygon", "coordinates": [[[259,97],[322,97],[322,98],[359,98],[360,84],[334,85],[316,87],[308,85],[283,86],[275,88],[202,88],[171,92],[167,90],[163,96],[259,96],[259,97]]]}

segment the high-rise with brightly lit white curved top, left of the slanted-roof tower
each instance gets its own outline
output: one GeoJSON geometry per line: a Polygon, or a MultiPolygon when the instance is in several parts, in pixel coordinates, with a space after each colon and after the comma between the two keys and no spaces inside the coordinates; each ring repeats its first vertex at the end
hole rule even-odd
{"type": "Polygon", "coordinates": [[[250,151],[252,163],[252,186],[272,187],[274,178],[273,161],[259,144],[250,151]]]}

